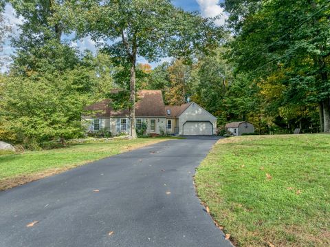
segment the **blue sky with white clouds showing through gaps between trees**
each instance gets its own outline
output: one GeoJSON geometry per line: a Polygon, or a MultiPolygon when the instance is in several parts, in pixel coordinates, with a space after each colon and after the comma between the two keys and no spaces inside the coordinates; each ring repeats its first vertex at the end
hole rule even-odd
{"type": "MultiPolygon", "coordinates": [[[[197,11],[200,12],[203,17],[216,17],[219,14],[223,14],[223,9],[219,6],[219,2],[221,0],[173,0],[173,4],[179,8],[183,8],[186,11],[197,11]]],[[[10,5],[5,7],[5,17],[8,19],[10,24],[14,26],[14,33],[19,33],[19,28],[16,25],[20,24],[22,20],[15,18],[14,10],[10,5]]],[[[222,25],[224,23],[224,15],[219,21],[217,21],[218,25],[222,25]]],[[[96,47],[94,41],[86,38],[82,41],[72,42],[72,45],[77,46],[80,50],[91,50],[92,52],[96,52],[96,47]]],[[[3,46],[3,52],[0,53],[0,56],[10,56],[14,53],[12,47],[10,47],[10,42],[7,40],[3,46]]],[[[170,61],[170,58],[163,58],[162,61],[170,61]]],[[[161,61],[161,62],[162,62],[161,61]]],[[[139,58],[139,63],[147,63],[143,58],[139,58]]],[[[158,63],[151,63],[151,65],[155,66],[158,63]]],[[[1,68],[3,71],[4,68],[1,68]]]]}

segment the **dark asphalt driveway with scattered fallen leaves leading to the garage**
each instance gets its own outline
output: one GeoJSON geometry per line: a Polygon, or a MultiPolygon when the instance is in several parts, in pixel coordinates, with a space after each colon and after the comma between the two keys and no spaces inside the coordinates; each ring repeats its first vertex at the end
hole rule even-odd
{"type": "Polygon", "coordinates": [[[0,192],[0,246],[231,246],[192,183],[216,141],[160,142],[0,192]]]}

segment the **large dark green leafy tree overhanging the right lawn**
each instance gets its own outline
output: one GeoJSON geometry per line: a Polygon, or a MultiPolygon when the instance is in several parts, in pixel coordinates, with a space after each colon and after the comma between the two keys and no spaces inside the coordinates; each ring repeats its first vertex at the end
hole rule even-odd
{"type": "Polygon", "coordinates": [[[236,36],[231,58],[237,72],[256,82],[284,74],[283,102],[318,104],[325,132],[330,132],[329,7],[322,0],[225,1],[236,36]]]}

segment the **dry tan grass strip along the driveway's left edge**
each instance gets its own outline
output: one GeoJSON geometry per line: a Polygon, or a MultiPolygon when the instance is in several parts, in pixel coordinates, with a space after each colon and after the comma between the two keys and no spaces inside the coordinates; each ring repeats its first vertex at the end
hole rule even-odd
{"type": "MultiPolygon", "coordinates": [[[[132,146],[125,147],[122,150],[122,152],[120,152],[120,153],[126,153],[126,152],[129,152],[129,151],[133,151],[135,149],[140,149],[142,147],[151,146],[151,145],[157,144],[159,142],[166,142],[168,140],[175,140],[175,139],[174,138],[168,138],[168,139],[166,139],[166,138],[164,138],[164,139],[155,138],[155,140],[151,140],[150,142],[146,142],[146,143],[143,143],[143,144],[142,143],[136,144],[135,147],[134,146],[133,147],[132,146]]],[[[29,182],[40,180],[42,178],[47,178],[47,177],[50,177],[52,175],[56,175],[56,174],[59,174],[59,173],[64,173],[65,171],[69,171],[69,170],[74,169],[76,167],[80,167],[80,166],[83,166],[85,164],[95,162],[97,160],[102,160],[104,158],[109,158],[113,155],[118,155],[120,153],[114,153],[112,155],[104,156],[102,158],[97,158],[97,159],[92,159],[92,160],[85,160],[83,162],[78,162],[76,164],[68,164],[67,166],[64,166],[64,167],[45,169],[44,171],[39,171],[39,172],[36,172],[36,173],[28,173],[28,174],[25,174],[25,175],[17,175],[17,176],[14,176],[12,178],[5,178],[3,180],[0,180],[0,191],[7,191],[8,189],[12,189],[14,187],[21,186],[23,184],[27,184],[29,182]]]]}

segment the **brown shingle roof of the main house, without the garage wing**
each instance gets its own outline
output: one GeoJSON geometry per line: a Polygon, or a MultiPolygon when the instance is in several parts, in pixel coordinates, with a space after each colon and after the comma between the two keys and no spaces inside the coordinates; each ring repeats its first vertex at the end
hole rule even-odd
{"type": "MultiPolygon", "coordinates": [[[[138,101],[135,104],[135,116],[166,116],[162,91],[140,90],[137,92],[138,101]]],[[[87,111],[96,111],[93,116],[129,116],[128,109],[115,111],[109,106],[110,100],[102,100],[93,105],[85,107],[87,111]]]]}

